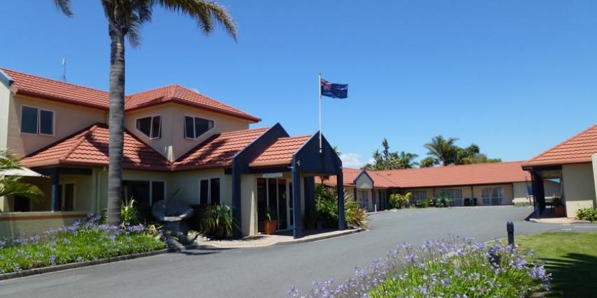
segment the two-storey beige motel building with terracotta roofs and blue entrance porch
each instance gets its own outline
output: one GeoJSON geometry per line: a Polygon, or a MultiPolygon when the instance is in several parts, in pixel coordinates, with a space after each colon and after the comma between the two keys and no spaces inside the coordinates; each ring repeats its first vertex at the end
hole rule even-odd
{"type": "MultiPolygon", "coordinates": [[[[1,68],[0,148],[30,169],[20,172],[22,181],[45,198],[0,197],[0,237],[43,232],[106,209],[107,120],[106,91],[1,68]]],[[[134,198],[150,220],[152,204],[174,194],[195,209],[228,204],[236,238],[264,230],[270,209],[278,231],[301,237],[305,216],[315,211],[314,177],[342,177],[342,162],[325,137],[320,149],[318,133],[293,137],[280,124],[250,128],[259,121],[177,84],[127,95],[123,197],[134,198]]]]}

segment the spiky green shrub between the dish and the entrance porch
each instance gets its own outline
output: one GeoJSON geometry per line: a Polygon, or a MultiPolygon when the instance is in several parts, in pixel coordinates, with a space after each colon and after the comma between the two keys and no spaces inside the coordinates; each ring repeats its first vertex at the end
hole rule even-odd
{"type": "Polygon", "coordinates": [[[201,223],[202,232],[207,236],[232,237],[232,210],[226,204],[208,206],[201,223]]]}

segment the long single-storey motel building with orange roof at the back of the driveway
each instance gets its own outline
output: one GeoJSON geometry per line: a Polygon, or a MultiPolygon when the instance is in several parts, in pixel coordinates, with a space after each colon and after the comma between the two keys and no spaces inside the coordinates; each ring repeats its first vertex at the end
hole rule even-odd
{"type": "MultiPolygon", "coordinates": [[[[362,208],[380,211],[389,208],[392,193],[412,193],[412,204],[445,193],[453,207],[533,203],[531,174],[523,161],[448,165],[403,170],[368,171],[344,168],[343,186],[362,208]]],[[[324,185],[336,187],[336,177],[326,177],[324,185]]],[[[316,178],[317,183],[321,183],[316,178]]],[[[548,193],[559,193],[556,180],[544,181],[548,193]]]]}

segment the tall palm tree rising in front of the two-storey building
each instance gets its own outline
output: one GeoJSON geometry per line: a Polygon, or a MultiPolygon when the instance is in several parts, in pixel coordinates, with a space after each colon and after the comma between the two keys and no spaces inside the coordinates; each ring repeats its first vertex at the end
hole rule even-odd
{"type": "MultiPolygon", "coordinates": [[[[53,0],[65,15],[72,15],[70,0],[53,0]]],[[[219,23],[236,40],[236,25],[226,9],[206,0],[101,0],[110,36],[110,145],[108,147],[107,222],[120,223],[122,158],[124,148],[124,38],[133,47],[141,41],[141,27],[151,21],[154,6],[188,15],[203,33],[219,23]]]]}

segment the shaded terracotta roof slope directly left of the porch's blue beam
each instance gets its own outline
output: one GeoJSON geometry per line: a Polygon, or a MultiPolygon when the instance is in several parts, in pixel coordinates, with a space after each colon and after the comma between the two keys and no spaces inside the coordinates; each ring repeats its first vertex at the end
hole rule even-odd
{"type": "Polygon", "coordinates": [[[247,129],[214,135],[175,161],[175,170],[193,170],[208,167],[228,167],[232,158],[245,149],[268,128],[247,129]]]}

